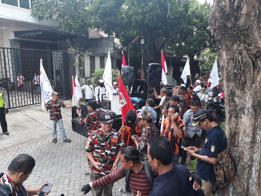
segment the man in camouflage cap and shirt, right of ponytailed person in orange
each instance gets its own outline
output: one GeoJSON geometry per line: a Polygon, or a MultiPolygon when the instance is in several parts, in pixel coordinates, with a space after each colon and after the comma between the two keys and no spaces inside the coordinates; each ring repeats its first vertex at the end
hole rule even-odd
{"type": "Polygon", "coordinates": [[[140,157],[144,157],[144,155],[147,155],[147,148],[148,148],[148,141],[151,138],[154,138],[156,136],[159,136],[159,130],[155,125],[152,125],[152,113],[146,109],[141,115],[140,115],[140,125],[144,126],[142,135],[139,137],[138,135],[133,135],[132,140],[138,146],[138,151],[140,154],[140,157]]]}

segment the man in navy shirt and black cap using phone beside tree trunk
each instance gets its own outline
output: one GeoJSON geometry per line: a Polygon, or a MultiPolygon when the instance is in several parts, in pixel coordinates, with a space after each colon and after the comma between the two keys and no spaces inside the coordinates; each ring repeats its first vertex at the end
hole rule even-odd
{"type": "Polygon", "coordinates": [[[212,188],[216,186],[216,181],[212,180],[215,179],[213,165],[217,162],[218,153],[227,148],[227,137],[220,124],[215,123],[213,115],[205,109],[195,113],[192,120],[195,122],[193,126],[199,125],[206,131],[206,139],[202,149],[193,146],[185,150],[198,158],[196,170],[202,179],[202,189],[206,196],[213,196],[212,188]]]}

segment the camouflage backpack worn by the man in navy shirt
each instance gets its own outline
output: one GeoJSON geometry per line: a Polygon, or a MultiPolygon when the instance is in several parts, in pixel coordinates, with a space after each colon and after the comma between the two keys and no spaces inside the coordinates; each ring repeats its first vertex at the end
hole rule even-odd
{"type": "Polygon", "coordinates": [[[228,185],[236,176],[236,162],[230,149],[218,154],[217,163],[213,165],[216,183],[219,188],[228,185]]]}

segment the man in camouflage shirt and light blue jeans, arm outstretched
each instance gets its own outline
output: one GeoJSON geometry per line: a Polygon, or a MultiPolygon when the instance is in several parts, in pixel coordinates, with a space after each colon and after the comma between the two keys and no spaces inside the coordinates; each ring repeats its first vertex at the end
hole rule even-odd
{"type": "Polygon", "coordinates": [[[50,109],[50,120],[52,125],[52,142],[57,142],[57,131],[56,131],[56,123],[58,124],[62,139],[64,142],[70,142],[71,140],[66,137],[65,130],[63,128],[63,120],[62,120],[62,114],[61,114],[61,106],[63,108],[71,108],[73,106],[67,106],[65,105],[61,100],[58,100],[59,93],[52,92],[52,99],[48,101],[47,103],[44,103],[44,106],[46,106],[46,111],[50,109]]]}

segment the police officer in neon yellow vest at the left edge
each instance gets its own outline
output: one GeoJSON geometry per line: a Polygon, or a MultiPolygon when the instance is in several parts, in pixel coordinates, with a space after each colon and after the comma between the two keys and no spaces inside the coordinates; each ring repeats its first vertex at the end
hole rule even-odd
{"type": "Polygon", "coordinates": [[[0,122],[1,122],[2,131],[5,135],[9,135],[9,133],[7,132],[7,123],[5,120],[5,114],[7,113],[8,113],[7,92],[3,88],[0,88],[0,122]]]}

